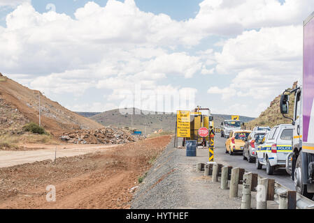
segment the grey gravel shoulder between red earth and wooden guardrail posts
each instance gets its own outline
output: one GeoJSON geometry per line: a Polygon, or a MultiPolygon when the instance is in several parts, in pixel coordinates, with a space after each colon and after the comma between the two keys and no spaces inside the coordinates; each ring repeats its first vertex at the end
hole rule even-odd
{"type": "Polygon", "coordinates": [[[240,197],[229,199],[229,190],[221,190],[220,183],[211,183],[210,177],[195,171],[198,162],[207,161],[207,153],[197,149],[197,157],[186,157],[185,149],[173,148],[171,141],[136,190],[131,208],[240,208],[240,197]]]}

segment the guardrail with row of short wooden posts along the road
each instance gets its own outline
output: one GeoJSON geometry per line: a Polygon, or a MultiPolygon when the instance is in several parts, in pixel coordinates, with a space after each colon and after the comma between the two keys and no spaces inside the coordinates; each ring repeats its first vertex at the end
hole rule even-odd
{"type": "Polygon", "coordinates": [[[314,209],[314,201],[288,189],[274,179],[261,178],[258,174],[245,172],[245,169],[210,163],[197,164],[197,172],[204,171],[204,176],[212,176],[212,182],[217,183],[220,176],[220,188],[229,189],[229,197],[238,197],[238,185],[242,184],[241,209],[250,209],[252,192],[256,193],[256,208],[266,209],[267,201],[278,203],[278,209],[314,209]],[[228,188],[228,180],[230,187],[228,188]]]}

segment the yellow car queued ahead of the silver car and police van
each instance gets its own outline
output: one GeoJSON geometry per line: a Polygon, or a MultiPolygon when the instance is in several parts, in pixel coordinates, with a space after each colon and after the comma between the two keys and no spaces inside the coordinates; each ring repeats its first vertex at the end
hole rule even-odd
{"type": "Polygon", "coordinates": [[[250,130],[233,130],[229,134],[229,138],[226,141],[226,153],[234,155],[234,153],[243,153],[245,145],[245,139],[248,139],[248,135],[252,131],[250,130]]]}

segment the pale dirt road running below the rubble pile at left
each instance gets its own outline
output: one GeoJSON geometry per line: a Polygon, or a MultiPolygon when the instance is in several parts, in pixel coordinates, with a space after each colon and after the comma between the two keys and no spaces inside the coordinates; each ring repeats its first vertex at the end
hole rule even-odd
{"type": "Polygon", "coordinates": [[[31,163],[42,160],[55,160],[55,156],[58,158],[95,153],[101,150],[108,150],[115,146],[117,145],[48,146],[41,144],[30,144],[27,145],[27,149],[33,149],[30,151],[0,151],[0,168],[12,167],[18,164],[31,163]]]}

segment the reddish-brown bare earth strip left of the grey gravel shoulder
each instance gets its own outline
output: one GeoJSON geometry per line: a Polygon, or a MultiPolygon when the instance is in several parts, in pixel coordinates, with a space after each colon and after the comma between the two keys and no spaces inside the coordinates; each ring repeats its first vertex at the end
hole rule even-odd
{"type": "Polygon", "coordinates": [[[150,168],[170,136],[114,150],[0,169],[0,208],[129,208],[131,187],[150,168]],[[55,185],[56,201],[46,201],[55,185]]]}

